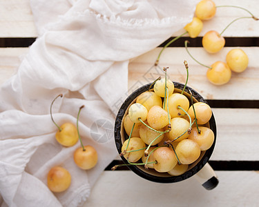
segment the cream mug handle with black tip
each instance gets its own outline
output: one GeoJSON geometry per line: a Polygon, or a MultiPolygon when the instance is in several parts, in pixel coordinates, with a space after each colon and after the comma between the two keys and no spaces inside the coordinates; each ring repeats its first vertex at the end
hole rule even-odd
{"type": "Polygon", "coordinates": [[[193,177],[207,190],[212,190],[219,183],[218,176],[215,175],[213,168],[208,163],[193,177]]]}

